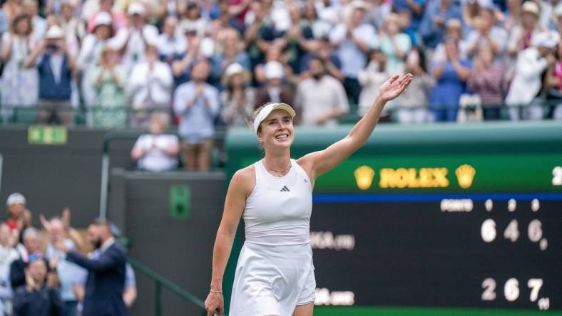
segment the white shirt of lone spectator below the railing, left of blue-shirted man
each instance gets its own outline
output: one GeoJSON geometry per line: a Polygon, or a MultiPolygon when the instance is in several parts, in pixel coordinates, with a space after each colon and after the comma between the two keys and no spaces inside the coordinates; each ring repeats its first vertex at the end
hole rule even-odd
{"type": "Polygon", "coordinates": [[[148,152],[138,161],[138,167],[152,172],[163,172],[178,167],[177,157],[170,157],[164,152],[170,145],[179,146],[175,135],[145,134],[138,137],[135,148],[140,147],[148,152]]]}

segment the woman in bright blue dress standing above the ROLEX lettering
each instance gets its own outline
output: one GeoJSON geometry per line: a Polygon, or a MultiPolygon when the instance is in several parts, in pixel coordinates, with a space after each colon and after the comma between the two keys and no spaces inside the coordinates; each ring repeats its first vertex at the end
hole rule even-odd
{"type": "Polygon", "coordinates": [[[454,122],[461,94],[466,92],[466,80],[471,72],[469,60],[461,59],[456,38],[445,39],[446,60],[433,65],[431,73],[436,84],[429,98],[429,109],[436,122],[454,122]]]}

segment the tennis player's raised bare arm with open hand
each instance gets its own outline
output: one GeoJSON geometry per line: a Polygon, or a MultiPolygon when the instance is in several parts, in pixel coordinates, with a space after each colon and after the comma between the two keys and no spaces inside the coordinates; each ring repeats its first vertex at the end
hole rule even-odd
{"type": "Polygon", "coordinates": [[[335,142],[324,150],[307,154],[299,159],[298,163],[307,172],[310,172],[312,179],[316,179],[321,174],[325,174],[337,167],[367,142],[379,121],[384,105],[404,92],[411,81],[412,74],[404,75],[402,79],[399,79],[399,75],[394,75],[387,80],[381,86],[379,95],[367,111],[367,114],[357,122],[344,139],[335,142]]]}

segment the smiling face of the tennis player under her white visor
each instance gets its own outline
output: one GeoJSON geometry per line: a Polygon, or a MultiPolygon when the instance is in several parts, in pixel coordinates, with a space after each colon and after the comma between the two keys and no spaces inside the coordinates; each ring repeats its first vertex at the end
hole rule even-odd
{"type": "Polygon", "coordinates": [[[295,127],[292,125],[292,117],[285,110],[273,110],[267,115],[257,131],[257,138],[263,148],[278,149],[289,148],[294,139],[295,127]]]}

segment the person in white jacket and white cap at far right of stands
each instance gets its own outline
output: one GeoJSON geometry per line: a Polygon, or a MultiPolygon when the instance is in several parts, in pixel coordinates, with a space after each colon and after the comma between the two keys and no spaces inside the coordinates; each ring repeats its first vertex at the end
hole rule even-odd
{"type": "Polygon", "coordinates": [[[533,46],[519,53],[515,76],[506,95],[511,120],[541,120],[544,115],[542,75],[556,64],[554,48],[559,41],[557,33],[538,33],[533,46]]]}

